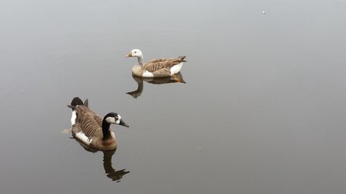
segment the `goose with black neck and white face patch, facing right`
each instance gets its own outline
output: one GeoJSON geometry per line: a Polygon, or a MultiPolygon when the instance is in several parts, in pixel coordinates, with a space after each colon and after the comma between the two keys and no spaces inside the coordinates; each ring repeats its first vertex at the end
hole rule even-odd
{"type": "Polygon", "coordinates": [[[113,150],[116,148],[116,136],[109,129],[111,124],[129,127],[117,113],[108,113],[102,119],[89,109],[89,101],[84,103],[79,97],[74,97],[72,109],[71,126],[72,135],[84,144],[100,150],[113,150]]]}

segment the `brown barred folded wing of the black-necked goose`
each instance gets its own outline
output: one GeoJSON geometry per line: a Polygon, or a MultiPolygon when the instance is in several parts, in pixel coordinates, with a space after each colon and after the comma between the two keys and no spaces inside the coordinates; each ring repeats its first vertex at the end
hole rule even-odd
{"type": "Polygon", "coordinates": [[[88,138],[102,134],[102,119],[100,121],[100,117],[98,115],[93,113],[93,111],[88,107],[82,105],[75,108],[75,110],[77,111],[77,119],[73,125],[73,128],[75,128],[73,129],[73,132],[83,132],[88,138]]]}

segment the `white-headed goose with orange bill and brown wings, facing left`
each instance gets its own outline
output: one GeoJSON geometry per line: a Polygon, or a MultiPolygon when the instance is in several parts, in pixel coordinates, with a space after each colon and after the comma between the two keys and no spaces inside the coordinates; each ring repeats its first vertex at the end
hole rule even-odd
{"type": "Polygon", "coordinates": [[[179,56],[170,59],[152,59],[143,64],[143,53],[139,49],[134,49],[125,57],[137,57],[138,65],[132,68],[132,75],[137,77],[169,77],[181,70],[181,66],[186,62],[186,56],[179,56]]]}

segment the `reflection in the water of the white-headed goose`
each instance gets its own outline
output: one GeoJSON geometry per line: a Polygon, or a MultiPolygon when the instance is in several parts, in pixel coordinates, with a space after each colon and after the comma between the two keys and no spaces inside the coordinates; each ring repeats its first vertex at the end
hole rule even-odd
{"type": "Polygon", "coordinates": [[[170,83],[183,83],[186,84],[186,82],[183,79],[183,75],[181,75],[181,72],[178,72],[170,77],[160,77],[160,78],[145,78],[145,77],[136,77],[132,76],[134,78],[134,81],[137,82],[138,87],[137,90],[134,90],[132,92],[128,92],[128,95],[131,95],[134,98],[139,97],[143,93],[143,81],[147,81],[150,84],[170,84],[170,83]]]}

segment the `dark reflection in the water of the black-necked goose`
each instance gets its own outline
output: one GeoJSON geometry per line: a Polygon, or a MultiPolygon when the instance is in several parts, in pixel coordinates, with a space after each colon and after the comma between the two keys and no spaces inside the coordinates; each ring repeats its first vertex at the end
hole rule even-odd
{"type": "MultiPolygon", "coordinates": [[[[75,138],[73,138],[75,139],[75,138]]],[[[90,146],[87,146],[86,144],[83,144],[80,142],[78,139],[75,139],[80,145],[86,150],[91,153],[96,153],[100,150],[92,148],[90,146]]],[[[111,157],[116,153],[116,150],[113,151],[102,151],[103,152],[103,168],[104,168],[104,173],[106,173],[107,177],[109,177],[112,181],[120,182],[122,179],[122,176],[126,175],[129,173],[129,171],[126,171],[126,169],[122,169],[119,171],[116,171],[115,168],[111,165],[111,157]]]]}

